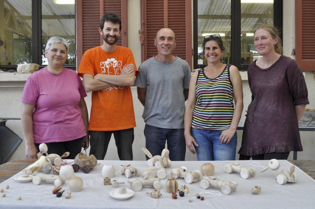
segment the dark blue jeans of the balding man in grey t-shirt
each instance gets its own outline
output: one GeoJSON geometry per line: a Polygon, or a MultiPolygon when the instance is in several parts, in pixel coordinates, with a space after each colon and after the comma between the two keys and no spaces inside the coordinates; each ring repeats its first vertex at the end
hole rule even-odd
{"type": "MultiPolygon", "coordinates": [[[[146,149],[149,150],[152,156],[161,155],[167,140],[169,159],[171,161],[185,160],[186,141],[184,128],[159,128],[146,124],[144,136],[146,137],[146,149]]],[[[149,159],[147,156],[146,158],[149,159]]]]}

